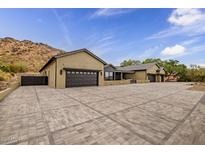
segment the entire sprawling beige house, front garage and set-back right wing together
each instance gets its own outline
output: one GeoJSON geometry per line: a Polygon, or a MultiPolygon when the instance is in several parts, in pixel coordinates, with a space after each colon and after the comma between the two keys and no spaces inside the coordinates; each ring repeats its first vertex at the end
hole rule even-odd
{"type": "Polygon", "coordinates": [[[165,75],[164,69],[155,63],[116,67],[87,49],[52,57],[40,73],[48,77],[48,86],[53,88],[163,82],[165,75]]]}

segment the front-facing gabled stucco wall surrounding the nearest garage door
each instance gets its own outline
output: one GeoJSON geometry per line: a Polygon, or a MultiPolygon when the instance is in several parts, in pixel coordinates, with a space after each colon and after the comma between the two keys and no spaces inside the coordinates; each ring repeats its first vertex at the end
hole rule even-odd
{"type": "Polygon", "coordinates": [[[73,55],[61,57],[57,59],[57,88],[65,88],[66,71],[63,68],[77,68],[77,69],[93,69],[101,70],[98,75],[99,85],[103,85],[104,81],[104,64],[90,56],[86,52],[79,52],[73,55]],[[62,70],[62,75],[60,75],[62,70]]]}

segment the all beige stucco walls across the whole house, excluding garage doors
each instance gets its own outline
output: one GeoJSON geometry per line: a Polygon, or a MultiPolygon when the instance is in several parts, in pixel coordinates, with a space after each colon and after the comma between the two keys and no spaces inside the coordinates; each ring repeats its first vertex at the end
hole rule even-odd
{"type": "MultiPolygon", "coordinates": [[[[93,70],[98,73],[98,85],[109,85],[109,84],[124,84],[130,83],[130,80],[123,82],[106,82],[104,81],[104,65],[106,63],[92,53],[86,51],[75,52],[67,55],[60,55],[51,59],[42,69],[41,74],[48,76],[48,85],[52,88],[66,88],[66,69],[79,69],[79,70],[93,70]]],[[[161,82],[161,76],[165,75],[164,70],[157,72],[159,67],[153,65],[146,70],[134,71],[134,73],[123,73],[125,79],[135,80],[137,83],[148,82],[148,75],[155,75],[157,82],[161,82]]],[[[121,74],[122,76],[122,74],[121,74]]],[[[69,82],[69,81],[68,81],[69,82]]]]}

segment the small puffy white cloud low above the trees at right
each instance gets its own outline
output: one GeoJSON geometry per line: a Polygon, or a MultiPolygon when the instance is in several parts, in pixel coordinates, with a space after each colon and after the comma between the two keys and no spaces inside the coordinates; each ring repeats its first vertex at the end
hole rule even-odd
{"type": "Polygon", "coordinates": [[[161,51],[161,55],[163,56],[177,56],[185,54],[186,48],[176,44],[172,47],[166,47],[164,50],[161,51]]]}

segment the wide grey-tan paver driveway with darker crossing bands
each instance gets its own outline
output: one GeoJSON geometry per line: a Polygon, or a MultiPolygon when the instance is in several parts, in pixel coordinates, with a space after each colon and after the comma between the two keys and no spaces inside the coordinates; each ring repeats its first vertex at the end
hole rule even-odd
{"type": "Polygon", "coordinates": [[[204,93],[188,87],[20,87],[0,102],[0,143],[205,144],[204,93]]]}

